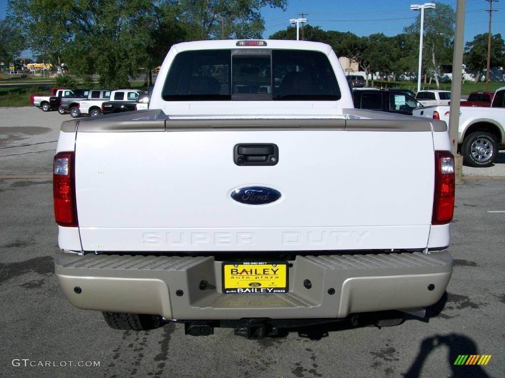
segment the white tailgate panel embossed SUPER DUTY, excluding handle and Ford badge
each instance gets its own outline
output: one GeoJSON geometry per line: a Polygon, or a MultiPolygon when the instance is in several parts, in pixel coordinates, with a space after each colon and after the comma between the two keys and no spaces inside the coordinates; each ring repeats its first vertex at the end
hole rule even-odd
{"type": "Polygon", "coordinates": [[[430,132],[78,133],[84,250],[324,250],[425,247],[430,132]],[[275,166],[237,166],[239,143],[274,143],[275,166]],[[244,205],[242,186],[280,200],[244,205]]]}

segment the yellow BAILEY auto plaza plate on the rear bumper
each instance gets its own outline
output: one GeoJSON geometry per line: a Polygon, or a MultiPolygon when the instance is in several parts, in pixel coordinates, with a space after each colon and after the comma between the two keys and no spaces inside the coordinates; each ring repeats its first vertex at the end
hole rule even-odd
{"type": "Polygon", "coordinates": [[[285,293],[288,267],[280,263],[223,263],[223,293],[285,293]]]}

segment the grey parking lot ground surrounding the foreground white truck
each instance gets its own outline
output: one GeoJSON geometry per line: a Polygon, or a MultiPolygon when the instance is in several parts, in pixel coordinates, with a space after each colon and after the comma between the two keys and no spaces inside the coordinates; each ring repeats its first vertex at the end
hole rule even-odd
{"type": "Polygon", "coordinates": [[[455,268],[427,318],[381,329],[341,322],[258,341],[230,329],[190,337],[180,324],[114,331],[101,313],[74,308],[63,297],[53,268],[58,245],[51,172],[66,119],[36,108],[0,108],[0,375],[503,376],[505,152],[494,167],[464,167],[451,225],[455,268]],[[488,364],[454,364],[459,355],[476,354],[491,355],[488,364]]]}

